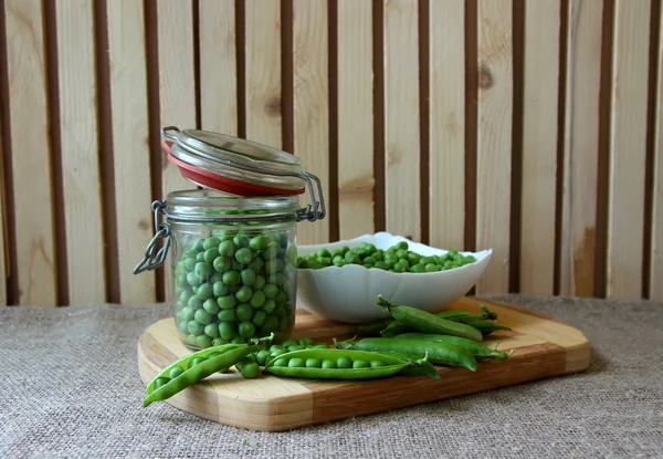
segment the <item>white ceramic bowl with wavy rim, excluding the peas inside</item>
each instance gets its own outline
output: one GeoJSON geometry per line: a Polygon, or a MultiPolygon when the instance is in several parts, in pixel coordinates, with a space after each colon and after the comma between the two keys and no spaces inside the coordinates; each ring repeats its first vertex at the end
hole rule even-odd
{"type": "MultiPolygon", "coordinates": [[[[448,250],[412,242],[388,232],[364,234],[356,239],[318,246],[299,246],[297,254],[304,257],[325,247],[350,249],[370,242],[378,249],[388,249],[399,241],[407,241],[409,250],[422,255],[442,255],[448,250]]],[[[366,269],[358,264],[327,267],[323,269],[297,269],[297,303],[314,314],[333,321],[361,324],[389,314],[381,312],[376,303],[378,295],[394,304],[407,304],[424,311],[435,311],[466,294],[478,281],[488,265],[492,250],[460,252],[472,254],[476,262],[448,271],[427,273],[396,273],[380,269],[366,269]]]]}

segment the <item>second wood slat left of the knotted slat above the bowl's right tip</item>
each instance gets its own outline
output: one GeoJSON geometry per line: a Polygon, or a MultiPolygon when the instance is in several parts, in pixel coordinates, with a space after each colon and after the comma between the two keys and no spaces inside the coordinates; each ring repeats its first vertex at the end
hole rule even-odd
{"type": "Polygon", "coordinates": [[[387,231],[419,241],[418,3],[385,4],[385,195],[387,231]]]}

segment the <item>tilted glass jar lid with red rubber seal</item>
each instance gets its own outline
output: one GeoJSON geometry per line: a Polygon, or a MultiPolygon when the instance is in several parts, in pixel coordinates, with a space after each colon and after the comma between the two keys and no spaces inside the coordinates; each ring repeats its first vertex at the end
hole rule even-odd
{"type": "Polygon", "coordinates": [[[286,152],[200,129],[161,129],[168,160],[203,188],[236,196],[301,195],[304,165],[286,152]]]}

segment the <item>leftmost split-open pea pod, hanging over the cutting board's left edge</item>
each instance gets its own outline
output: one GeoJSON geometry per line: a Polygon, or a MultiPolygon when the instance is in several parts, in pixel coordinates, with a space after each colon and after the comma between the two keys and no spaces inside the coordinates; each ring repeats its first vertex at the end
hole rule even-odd
{"type": "Polygon", "coordinates": [[[210,357],[197,365],[192,365],[190,368],[185,369],[179,376],[169,379],[160,387],[154,388],[143,400],[143,406],[146,407],[154,401],[161,401],[172,397],[175,394],[192,386],[193,384],[204,379],[206,377],[217,373],[223,372],[230,368],[232,365],[244,358],[250,352],[251,347],[246,344],[241,345],[222,345],[217,347],[219,355],[210,357]],[[222,348],[229,346],[230,348],[222,348]]]}

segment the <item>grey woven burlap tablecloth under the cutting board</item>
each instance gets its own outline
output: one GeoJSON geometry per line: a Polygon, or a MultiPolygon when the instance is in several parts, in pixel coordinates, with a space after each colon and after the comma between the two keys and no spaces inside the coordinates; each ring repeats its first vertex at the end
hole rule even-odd
{"type": "Polygon", "coordinates": [[[582,330],[590,368],[288,432],[143,408],[136,344],[168,306],[0,307],[0,457],[663,457],[663,304],[496,299],[582,330]]]}

